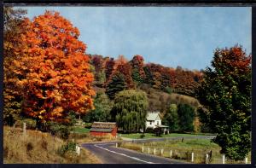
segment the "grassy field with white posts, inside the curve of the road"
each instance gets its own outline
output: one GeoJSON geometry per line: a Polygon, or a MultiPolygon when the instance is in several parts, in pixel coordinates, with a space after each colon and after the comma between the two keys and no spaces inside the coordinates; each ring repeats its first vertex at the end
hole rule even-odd
{"type": "MultiPolygon", "coordinates": [[[[222,163],[222,154],[219,154],[221,148],[218,146],[218,144],[211,142],[209,139],[184,139],[183,142],[181,140],[168,140],[165,142],[145,142],[143,144],[123,142],[120,144],[120,147],[136,150],[137,152],[143,151],[146,154],[154,154],[155,150],[156,155],[166,158],[171,158],[172,150],[172,159],[181,159],[188,162],[191,162],[191,155],[194,153],[194,163],[197,164],[206,163],[206,154],[209,154],[212,151],[210,163],[222,163]]],[[[251,155],[249,154],[248,160],[250,159],[251,155]]],[[[244,161],[227,159],[226,163],[235,164],[244,163],[244,161]]]]}

